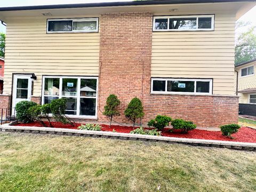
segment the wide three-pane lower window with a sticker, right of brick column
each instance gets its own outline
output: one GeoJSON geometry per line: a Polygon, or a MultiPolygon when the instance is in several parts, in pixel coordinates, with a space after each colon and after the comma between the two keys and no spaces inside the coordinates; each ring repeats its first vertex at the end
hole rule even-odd
{"type": "Polygon", "coordinates": [[[151,93],[212,94],[212,79],[151,78],[151,93]]]}

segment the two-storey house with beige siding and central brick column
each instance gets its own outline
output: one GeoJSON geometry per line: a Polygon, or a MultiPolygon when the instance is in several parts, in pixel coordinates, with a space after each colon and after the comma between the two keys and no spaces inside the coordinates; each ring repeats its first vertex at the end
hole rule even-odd
{"type": "Polygon", "coordinates": [[[237,123],[235,22],[254,5],[160,0],[0,8],[7,23],[1,106],[65,97],[70,117],[108,122],[102,111],[116,94],[120,123],[129,123],[124,110],[134,97],[143,103],[142,123],[157,114],[198,127],[237,123]]]}

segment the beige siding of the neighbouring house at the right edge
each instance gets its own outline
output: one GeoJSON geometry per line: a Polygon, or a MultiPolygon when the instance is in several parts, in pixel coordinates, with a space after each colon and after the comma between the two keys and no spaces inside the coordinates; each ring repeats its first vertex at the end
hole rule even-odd
{"type": "MultiPolygon", "coordinates": [[[[236,68],[238,71],[238,91],[249,89],[249,88],[256,88],[256,61],[248,63],[247,65],[241,66],[236,68]],[[249,76],[241,77],[241,69],[250,67],[254,65],[254,74],[249,76]]],[[[239,103],[249,103],[248,102],[248,94],[247,93],[238,93],[239,95],[239,103]]]]}

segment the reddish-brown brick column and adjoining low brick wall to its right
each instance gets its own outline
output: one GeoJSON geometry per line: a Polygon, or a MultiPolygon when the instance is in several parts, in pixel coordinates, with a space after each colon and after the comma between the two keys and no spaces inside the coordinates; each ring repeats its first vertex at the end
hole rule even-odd
{"type": "Polygon", "coordinates": [[[115,117],[118,122],[130,123],[123,111],[132,98],[138,97],[145,112],[143,123],[157,114],[193,121],[198,127],[237,123],[237,97],[150,94],[152,13],[101,16],[99,121],[108,121],[101,111],[108,95],[116,94],[121,100],[121,116],[115,117]]]}

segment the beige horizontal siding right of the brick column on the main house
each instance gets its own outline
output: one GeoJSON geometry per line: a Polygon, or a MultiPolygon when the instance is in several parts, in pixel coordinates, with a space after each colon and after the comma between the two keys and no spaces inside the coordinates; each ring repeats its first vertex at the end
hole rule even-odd
{"type": "Polygon", "coordinates": [[[235,94],[235,21],[218,13],[214,31],[153,32],[151,76],[213,78],[213,94],[235,94]]]}

